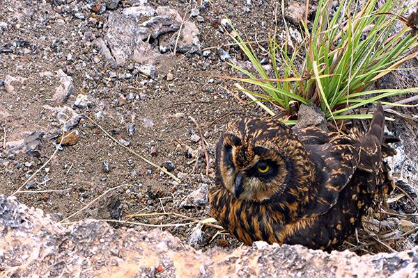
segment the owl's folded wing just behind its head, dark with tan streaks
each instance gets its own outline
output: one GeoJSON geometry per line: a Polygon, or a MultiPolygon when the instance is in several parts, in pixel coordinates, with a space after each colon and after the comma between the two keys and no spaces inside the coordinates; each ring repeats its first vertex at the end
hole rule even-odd
{"type": "Polygon", "coordinates": [[[305,145],[314,164],[314,197],[304,216],[326,213],[336,204],[339,193],[348,184],[360,163],[362,147],[358,140],[338,136],[321,145],[305,145]]]}

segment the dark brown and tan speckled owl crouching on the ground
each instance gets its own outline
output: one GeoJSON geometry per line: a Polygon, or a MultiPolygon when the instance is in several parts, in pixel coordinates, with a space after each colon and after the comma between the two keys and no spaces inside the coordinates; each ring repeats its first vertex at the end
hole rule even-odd
{"type": "Polygon", "coordinates": [[[332,250],[394,189],[382,161],[384,126],[380,104],[363,134],[293,131],[274,117],[229,122],[217,144],[210,213],[247,245],[332,250]]]}

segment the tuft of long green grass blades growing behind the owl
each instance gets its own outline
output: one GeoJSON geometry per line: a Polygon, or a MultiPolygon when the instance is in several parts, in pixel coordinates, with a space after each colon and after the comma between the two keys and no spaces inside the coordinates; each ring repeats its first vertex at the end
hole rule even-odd
{"type": "Polygon", "coordinates": [[[372,115],[355,114],[354,109],[387,97],[418,92],[418,88],[368,90],[376,80],[400,70],[403,63],[418,56],[415,26],[403,17],[416,5],[417,1],[406,6],[405,1],[345,0],[330,15],[332,1],[319,0],[311,26],[301,23],[300,44],[292,42],[288,32],[284,44],[279,43],[276,35],[270,38],[270,73],[251,44],[233,28],[235,35],[231,38],[255,72],[230,63],[246,78],[229,79],[256,85],[261,92],[239,90],[258,101],[277,104],[291,118],[300,104],[316,104],[327,120],[371,118],[372,115]]]}

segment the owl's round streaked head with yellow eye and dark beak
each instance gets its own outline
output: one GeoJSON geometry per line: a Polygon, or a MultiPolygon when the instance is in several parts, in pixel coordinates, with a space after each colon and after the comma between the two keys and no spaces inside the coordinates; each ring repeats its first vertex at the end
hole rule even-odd
{"type": "Polygon", "coordinates": [[[238,199],[269,202],[282,195],[305,198],[311,167],[285,124],[268,117],[229,122],[217,145],[217,178],[238,199]],[[303,195],[303,196],[302,196],[303,195]]]}

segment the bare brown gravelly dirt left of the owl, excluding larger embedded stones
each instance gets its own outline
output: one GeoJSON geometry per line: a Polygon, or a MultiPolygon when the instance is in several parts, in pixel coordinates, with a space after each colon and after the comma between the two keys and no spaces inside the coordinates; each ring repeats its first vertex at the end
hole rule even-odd
{"type": "MultiPolygon", "coordinates": [[[[122,220],[129,218],[131,222],[143,223],[123,224],[121,229],[150,229],[146,224],[169,224],[162,229],[188,242],[192,234],[196,235],[196,224],[175,225],[189,220],[164,213],[176,212],[199,220],[208,218],[206,204],[189,207],[182,203],[194,190],[204,188],[204,183],[210,186],[214,182],[214,149],[219,133],[232,117],[265,113],[239,93],[233,95],[232,82],[219,79],[233,74],[216,48],[231,42],[222,31],[221,20],[227,15],[248,38],[265,40],[274,29],[275,1],[212,1],[200,9],[194,1],[148,1],[154,8],[162,5],[175,8],[180,15],[196,7],[200,15],[190,20],[199,28],[202,51],[211,51],[207,57],[165,54],[154,79],[133,74],[129,65],[112,67],[91,40],[86,39],[92,34],[95,38],[102,37],[102,24],[113,11],[98,15],[88,10],[83,12],[88,13],[86,19],[79,19],[71,7],[86,6],[84,1],[67,0],[57,5],[59,2],[2,1],[0,121],[6,139],[0,142],[5,140],[6,146],[0,149],[0,194],[14,193],[52,157],[16,194],[20,202],[55,213],[62,220],[109,188],[121,186],[93,202],[87,213],[82,211],[68,221],[87,216],[115,219],[121,213],[122,220]],[[59,70],[70,76],[74,84],[72,94],[63,103],[53,100],[60,83],[59,70]],[[14,81],[7,83],[10,76],[14,81]],[[93,99],[94,105],[84,109],[73,106],[79,94],[93,99]],[[130,149],[167,167],[181,181],[171,179],[127,152],[86,117],[72,129],[79,136],[75,144],[54,154],[62,124],[52,110],[64,106],[95,120],[117,140],[129,141],[130,149]],[[14,152],[7,147],[19,145],[18,140],[36,131],[42,133],[36,151],[28,154],[24,149],[14,152]],[[192,140],[194,135],[204,138],[210,160],[208,173],[204,149],[201,141],[192,140]],[[129,217],[132,213],[155,214],[129,217]]],[[[121,1],[117,9],[134,2],[121,1]]],[[[280,14],[278,18],[280,22],[280,14]]],[[[240,59],[235,47],[224,49],[240,59]]],[[[72,116],[68,111],[65,114],[72,116]]],[[[417,129],[414,126],[408,129],[412,134],[410,140],[413,136],[416,140],[417,129]]],[[[216,229],[204,229],[196,246],[214,244],[209,242],[216,233],[216,229]]],[[[217,236],[215,240],[215,245],[222,247],[239,244],[231,236],[217,236]]]]}

